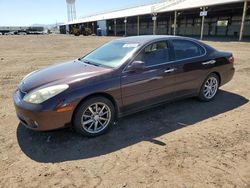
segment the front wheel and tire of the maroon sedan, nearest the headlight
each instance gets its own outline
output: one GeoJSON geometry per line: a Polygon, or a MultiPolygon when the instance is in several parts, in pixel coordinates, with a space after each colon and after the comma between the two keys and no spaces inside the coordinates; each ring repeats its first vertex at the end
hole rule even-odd
{"type": "Polygon", "coordinates": [[[104,97],[94,97],[86,100],[77,108],[73,126],[83,136],[96,137],[106,133],[114,125],[114,121],[113,103],[104,97]]]}

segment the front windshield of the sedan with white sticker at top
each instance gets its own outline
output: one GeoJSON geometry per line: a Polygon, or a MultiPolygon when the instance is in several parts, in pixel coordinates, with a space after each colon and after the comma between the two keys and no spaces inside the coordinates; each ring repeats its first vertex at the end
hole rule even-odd
{"type": "Polygon", "coordinates": [[[138,46],[138,43],[109,42],[80,60],[96,66],[116,68],[127,61],[138,46]]]}

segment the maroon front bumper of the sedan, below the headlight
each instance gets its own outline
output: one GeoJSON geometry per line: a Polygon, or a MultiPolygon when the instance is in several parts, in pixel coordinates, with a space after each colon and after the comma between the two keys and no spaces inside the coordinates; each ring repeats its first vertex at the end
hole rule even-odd
{"type": "Polygon", "coordinates": [[[29,129],[49,131],[63,128],[71,122],[73,111],[59,113],[54,108],[28,104],[23,101],[19,90],[14,92],[13,101],[18,119],[29,129]]]}

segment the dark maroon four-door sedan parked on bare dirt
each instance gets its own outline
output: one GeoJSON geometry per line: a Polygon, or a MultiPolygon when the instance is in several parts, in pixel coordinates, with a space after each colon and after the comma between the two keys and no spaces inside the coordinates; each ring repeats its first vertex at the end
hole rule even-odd
{"type": "MultiPolygon", "coordinates": [[[[34,71],[13,99],[21,124],[105,133],[119,117],[179,98],[215,98],[234,75],[232,53],[177,36],[111,41],[77,60],[34,71]]],[[[152,114],[153,115],[153,114],[152,114]]]]}

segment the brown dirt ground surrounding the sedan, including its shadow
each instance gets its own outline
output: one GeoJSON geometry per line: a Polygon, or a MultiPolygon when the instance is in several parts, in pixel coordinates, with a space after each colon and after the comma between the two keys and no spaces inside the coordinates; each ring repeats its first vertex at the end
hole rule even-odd
{"type": "Polygon", "coordinates": [[[33,132],[12,92],[27,73],[76,59],[108,37],[0,36],[0,187],[250,187],[250,43],[211,103],[186,99],[122,118],[108,134],[33,132]]]}

